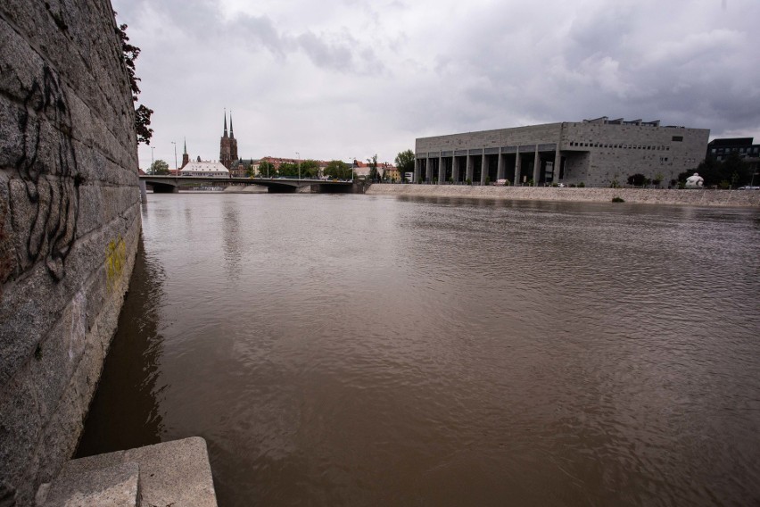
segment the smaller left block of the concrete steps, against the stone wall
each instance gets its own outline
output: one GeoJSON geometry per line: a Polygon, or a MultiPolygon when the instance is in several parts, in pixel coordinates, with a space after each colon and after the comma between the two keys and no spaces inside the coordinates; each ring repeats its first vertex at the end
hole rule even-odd
{"type": "Polygon", "coordinates": [[[98,470],[65,469],[53,483],[40,486],[41,507],[140,507],[140,467],[134,461],[98,470]]]}

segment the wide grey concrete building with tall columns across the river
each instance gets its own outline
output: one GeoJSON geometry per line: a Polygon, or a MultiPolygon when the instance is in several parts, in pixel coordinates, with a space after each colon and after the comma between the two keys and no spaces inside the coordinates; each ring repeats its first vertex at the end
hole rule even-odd
{"type": "Polygon", "coordinates": [[[415,180],[609,186],[640,173],[666,183],[704,160],[709,134],[709,129],[603,116],[420,137],[415,143],[415,180]]]}

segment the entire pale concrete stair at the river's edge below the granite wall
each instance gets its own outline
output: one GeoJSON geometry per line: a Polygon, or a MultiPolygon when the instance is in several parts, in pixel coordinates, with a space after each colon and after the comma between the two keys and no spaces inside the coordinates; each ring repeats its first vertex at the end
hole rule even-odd
{"type": "Polygon", "coordinates": [[[193,436],[71,460],[37,507],[217,507],[206,442],[193,436]]]}

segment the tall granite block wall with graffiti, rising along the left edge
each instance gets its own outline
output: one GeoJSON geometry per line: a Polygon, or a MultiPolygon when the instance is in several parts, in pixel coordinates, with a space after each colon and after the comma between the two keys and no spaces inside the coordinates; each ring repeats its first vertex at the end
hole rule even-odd
{"type": "Polygon", "coordinates": [[[70,459],[140,233],[108,0],[0,2],[0,504],[70,459]]]}

